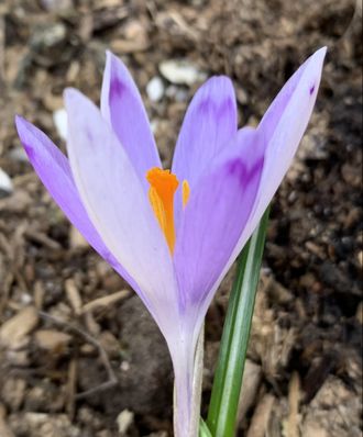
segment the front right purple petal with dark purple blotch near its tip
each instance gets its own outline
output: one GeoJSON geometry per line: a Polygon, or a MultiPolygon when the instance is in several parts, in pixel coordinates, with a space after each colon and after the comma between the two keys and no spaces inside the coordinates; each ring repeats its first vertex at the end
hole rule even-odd
{"type": "MultiPolygon", "coordinates": [[[[263,137],[241,130],[200,178],[180,223],[174,261],[180,305],[202,320],[210,290],[250,217],[263,168],[263,137]]],[[[199,328],[199,327],[198,327],[199,328]]]]}

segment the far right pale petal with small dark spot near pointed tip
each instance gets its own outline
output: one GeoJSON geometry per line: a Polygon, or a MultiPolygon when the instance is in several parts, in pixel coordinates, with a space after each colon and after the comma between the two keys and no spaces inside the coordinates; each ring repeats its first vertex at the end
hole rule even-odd
{"type": "Polygon", "coordinates": [[[326,47],[316,52],[288,80],[257,128],[264,137],[266,150],[253,212],[223,271],[212,285],[212,294],[257,226],[292,164],[317,99],[326,52],[326,47]]]}

